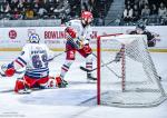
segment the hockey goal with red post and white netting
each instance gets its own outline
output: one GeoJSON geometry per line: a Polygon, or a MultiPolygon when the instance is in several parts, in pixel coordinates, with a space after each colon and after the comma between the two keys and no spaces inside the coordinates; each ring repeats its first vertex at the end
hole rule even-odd
{"type": "Polygon", "coordinates": [[[98,37],[98,105],[154,107],[166,99],[143,35],[98,37]]]}

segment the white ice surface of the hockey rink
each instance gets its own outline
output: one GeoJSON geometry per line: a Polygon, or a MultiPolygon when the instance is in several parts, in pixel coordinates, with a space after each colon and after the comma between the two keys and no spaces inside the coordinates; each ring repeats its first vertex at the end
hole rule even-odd
{"type": "MultiPolygon", "coordinates": [[[[10,62],[18,55],[16,51],[0,52],[0,65],[10,62]]],[[[167,53],[151,52],[151,57],[167,91],[167,53]]],[[[51,76],[60,73],[63,61],[65,55],[50,62],[51,76]]],[[[96,61],[94,63],[96,65],[96,61]]],[[[30,95],[17,95],[11,91],[16,78],[22,75],[12,78],[1,77],[0,118],[167,118],[167,100],[151,108],[97,106],[97,86],[87,82],[86,72],[79,69],[81,65],[85,65],[85,59],[77,55],[65,78],[69,82],[67,88],[38,90],[30,95]]]]}

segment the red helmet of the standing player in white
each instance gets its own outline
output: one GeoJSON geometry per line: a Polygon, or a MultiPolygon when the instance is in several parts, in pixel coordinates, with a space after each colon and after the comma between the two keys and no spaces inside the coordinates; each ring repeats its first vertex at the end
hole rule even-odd
{"type": "Polygon", "coordinates": [[[90,24],[92,21],[92,13],[90,11],[82,11],[81,21],[84,24],[90,24]]]}

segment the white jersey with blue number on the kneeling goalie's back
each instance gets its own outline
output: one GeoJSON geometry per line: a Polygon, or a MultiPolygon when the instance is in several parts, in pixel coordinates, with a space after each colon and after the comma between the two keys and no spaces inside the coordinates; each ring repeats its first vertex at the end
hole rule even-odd
{"type": "Polygon", "coordinates": [[[52,57],[53,52],[46,45],[28,43],[14,60],[14,68],[26,67],[26,76],[31,78],[47,77],[49,75],[48,60],[52,57]]]}

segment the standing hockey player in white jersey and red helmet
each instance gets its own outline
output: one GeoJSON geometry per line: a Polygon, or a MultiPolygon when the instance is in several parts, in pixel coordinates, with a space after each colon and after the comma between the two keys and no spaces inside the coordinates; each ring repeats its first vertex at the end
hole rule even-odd
{"type": "MultiPolygon", "coordinates": [[[[60,76],[57,78],[63,80],[65,75],[75,61],[76,51],[86,58],[86,68],[89,70],[92,69],[92,50],[89,46],[92,33],[90,27],[91,21],[92,13],[89,11],[84,11],[80,20],[70,20],[67,22],[67,28],[65,29],[67,33],[66,61],[61,67],[60,76]]],[[[87,79],[96,80],[97,78],[92,77],[91,72],[87,72],[87,79]]]]}

